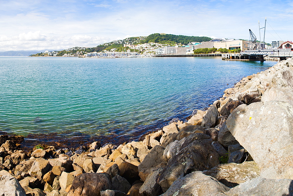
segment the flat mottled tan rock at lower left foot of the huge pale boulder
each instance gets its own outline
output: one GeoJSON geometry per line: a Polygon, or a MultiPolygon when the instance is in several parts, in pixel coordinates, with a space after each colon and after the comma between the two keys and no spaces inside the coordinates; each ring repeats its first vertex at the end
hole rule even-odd
{"type": "Polygon", "coordinates": [[[210,175],[228,187],[235,187],[260,175],[258,165],[254,161],[245,161],[241,164],[220,164],[202,173],[210,175]]]}

